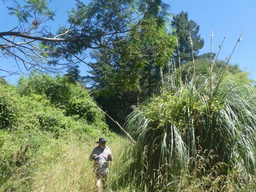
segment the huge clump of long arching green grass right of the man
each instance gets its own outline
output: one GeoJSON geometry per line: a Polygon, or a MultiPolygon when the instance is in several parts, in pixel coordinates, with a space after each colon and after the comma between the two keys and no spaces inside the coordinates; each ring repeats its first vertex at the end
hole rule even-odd
{"type": "Polygon", "coordinates": [[[256,88],[213,75],[210,96],[208,76],[166,82],[165,94],[129,116],[137,143],[127,145],[113,189],[253,191],[256,88]]]}

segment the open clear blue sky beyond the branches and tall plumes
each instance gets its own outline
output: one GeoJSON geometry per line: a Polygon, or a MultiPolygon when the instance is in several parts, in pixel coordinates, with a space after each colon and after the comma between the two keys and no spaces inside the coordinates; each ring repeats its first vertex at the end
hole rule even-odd
{"type": "MultiPolygon", "coordinates": [[[[88,2],[88,0],[86,1],[88,2]]],[[[256,80],[256,0],[164,0],[171,6],[170,12],[177,14],[181,11],[188,12],[189,19],[200,25],[200,34],[204,38],[204,48],[200,53],[210,50],[210,32],[213,25],[213,51],[218,49],[218,44],[227,33],[227,39],[223,45],[219,58],[226,58],[233,49],[244,26],[247,28],[242,35],[231,64],[239,64],[242,70],[250,73],[250,78],[256,80]]],[[[74,7],[74,0],[52,0],[50,7],[57,10],[55,21],[52,22],[52,30],[62,26],[67,20],[67,10],[74,7]]],[[[17,26],[17,19],[8,15],[6,6],[0,1],[0,31],[9,31],[17,26]]],[[[13,60],[0,58],[0,68],[13,69],[13,60]]],[[[81,75],[86,75],[88,67],[81,66],[81,75]]],[[[19,76],[6,78],[11,83],[15,83],[19,76]]]]}

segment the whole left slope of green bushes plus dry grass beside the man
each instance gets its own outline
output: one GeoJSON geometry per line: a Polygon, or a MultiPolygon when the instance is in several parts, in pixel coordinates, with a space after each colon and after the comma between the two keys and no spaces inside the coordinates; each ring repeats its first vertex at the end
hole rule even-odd
{"type": "Polygon", "coordinates": [[[0,191],[82,191],[93,179],[93,143],[120,143],[88,92],[66,76],[35,73],[17,87],[3,81],[0,93],[0,191]]]}

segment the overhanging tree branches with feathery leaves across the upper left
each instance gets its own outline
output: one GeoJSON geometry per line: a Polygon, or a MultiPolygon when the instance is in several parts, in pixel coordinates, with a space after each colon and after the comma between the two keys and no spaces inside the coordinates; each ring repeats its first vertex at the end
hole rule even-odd
{"type": "Polygon", "coordinates": [[[76,7],[68,12],[67,25],[52,32],[48,21],[54,20],[55,12],[49,9],[47,0],[12,3],[7,9],[19,22],[14,29],[0,32],[1,56],[14,58],[20,70],[23,65],[26,70],[47,72],[58,72],[77,63],[90,66],[85,58],[90,51],[103,47],[146,54],[148,49],[125,49],[120,45],[131,38],[129,35],[138,26],[151,25],[144,20],[163,23],[169,7],[162,0],[91,0],[88,4],[76,0],[76,7]]]}

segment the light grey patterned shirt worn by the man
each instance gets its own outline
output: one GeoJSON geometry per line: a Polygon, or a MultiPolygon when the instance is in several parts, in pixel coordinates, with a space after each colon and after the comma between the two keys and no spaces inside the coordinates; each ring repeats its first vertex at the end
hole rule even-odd
{"type": "Polygon", "coordinates": [[[105,148],[101,150],[99,146],[97,146],[96,148],[93,149],[93,152],[89,157],[90,161],[93,160],[93,154],[96,154],[93,164],[94,170],[100,174],[108,173],[109,161],[112,161],[113,159],[110,148],[108,146],[105,146],[105,148]],[[111,159],[108,159],[108,154],[111,154],[111,159]]]}

